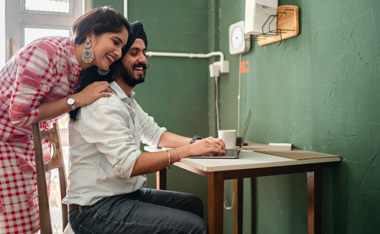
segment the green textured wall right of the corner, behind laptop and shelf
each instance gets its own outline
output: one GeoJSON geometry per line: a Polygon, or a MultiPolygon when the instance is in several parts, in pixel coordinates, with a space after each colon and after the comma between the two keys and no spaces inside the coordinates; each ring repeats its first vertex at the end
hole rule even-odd
{"type": "MultiPolygon", "coordinates": [[[[237,115],[227,107],[237,110],[239,56],[228,52],[228,27],[245,19],[245,1],[211,2],[219,5],[215,44],[231,64],[230,74],[219,79],[221,127],[231,128],[237,115]]],[[[280,46],[252,42],[242,55],[250,72],[242,74],[240,127],[253,109],[247,140],[341,155],[340,163],[323,168],[322,233],[378,233],[380,5],[375,0],[279,0],[288,4],[299,6],[299,35],[280,46]]],[[[210,85],[210,99],[213,92],[210,85]]],[[[256,212],[244,217],[244,233],[307,233],[306,174],[250,182],[244,208],[256,196],[256,212]]],[[[226,229],[231,233],[233,227],[226,229]]]]}

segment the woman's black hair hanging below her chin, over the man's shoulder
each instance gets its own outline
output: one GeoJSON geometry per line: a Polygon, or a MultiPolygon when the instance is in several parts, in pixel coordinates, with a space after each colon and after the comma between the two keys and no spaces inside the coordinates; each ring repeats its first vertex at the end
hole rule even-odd
{"type": "MultiPolygon", "coordinates": [[[[121,59],[118,59],[116,61],[119,61],[121,59]]],[[[115,61],[115,62],[116,62],[115,61]]],[[[106,81],[108,83],[111,83],[114,81],[117,77],[117,69],[115,68],[115,64],[112,63],[111,66],[109,66],[109,72],[106,75],[100,75],[98,73],[98,67],[97,66],[92,66],[90,68],[86,69],[86,74],[84,75],[82,79],[81,86],[79,86],[78,89],[74,91],[74,93],[79,93],[82,91],[84,88],[86,88],[88,85],[92,84],[93,82],[97,81],[106,81]]],[[[72,110],[70,112],[70,119],[71,120],[76,120],[76,116],[78,115],[78,111],[81,107],[76,108],[75,110],[72,110]]]]}

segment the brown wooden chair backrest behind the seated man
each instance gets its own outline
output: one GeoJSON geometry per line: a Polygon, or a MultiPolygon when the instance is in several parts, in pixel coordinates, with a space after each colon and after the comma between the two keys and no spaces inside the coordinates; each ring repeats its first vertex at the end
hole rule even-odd
{"type": "MultiPolygon", "coordinates": [[[[33,124],[33,142],[36,160],[36,176],[37,176],[37,192],[38,204],[40,208],[40,229],[41,233],[52,233],[49,197],[47,195],[46,172],[58,168],[59,184],[61,191],[61,201],[66,196],[66,173],[63,162],[62,146],[59,135],[58,122],[53,124],[53,127],[47,131],[40,131],[39,123],[33,124]],[[44,163],[41,140],[49,140],[54,146],[54,154],[49,162],[44,163]]],[[[68,207],[62,204],[62,223],[63,229],[67,226],[68,207]]]]}

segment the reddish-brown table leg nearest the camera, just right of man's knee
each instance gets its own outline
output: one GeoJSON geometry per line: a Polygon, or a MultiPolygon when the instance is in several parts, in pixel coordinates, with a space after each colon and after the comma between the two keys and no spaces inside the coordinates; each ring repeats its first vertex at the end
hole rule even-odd
{"type": "Polygon", "coordinates": [[[209,172],[209,233],[223,233],[224,174],[222,171],[209,172]]]}

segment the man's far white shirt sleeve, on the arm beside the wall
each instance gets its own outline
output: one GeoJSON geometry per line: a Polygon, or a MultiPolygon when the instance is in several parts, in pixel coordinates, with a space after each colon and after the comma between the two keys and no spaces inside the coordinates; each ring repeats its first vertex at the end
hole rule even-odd
{"type": "Polygon", "coordinates": [[[140,122],[142,143],[157,147],[161,135],[166,131],[166,128],[159,127],[154,122],[154,118],[145,113],[136,101],[134,105],[140,122]]]}

